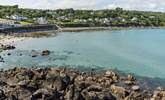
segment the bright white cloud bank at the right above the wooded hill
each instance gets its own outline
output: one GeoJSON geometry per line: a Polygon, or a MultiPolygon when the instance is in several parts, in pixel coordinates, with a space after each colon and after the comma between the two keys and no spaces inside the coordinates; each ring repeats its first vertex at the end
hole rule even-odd
{"type": "Polygon", "coordinates": [[[130,10],[165,11],[165,0],[114,0],[104,8],[116,7],[130,10]]]}

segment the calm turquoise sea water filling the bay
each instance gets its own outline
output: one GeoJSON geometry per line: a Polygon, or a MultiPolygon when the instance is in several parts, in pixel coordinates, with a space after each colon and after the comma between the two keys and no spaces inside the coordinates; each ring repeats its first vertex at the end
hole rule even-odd
{"type": "Polygon", "coordinates": [[[1,53],[0,68],[70,65],[117,69],[151,78],[165,78],[165,29],[61,32],[56,37],[17,42],[16,50],[1,53]],[[31,57],[32,50],[51,50],[31,57]],[[20,56],[22,54],[22,56],[20,56]]]}

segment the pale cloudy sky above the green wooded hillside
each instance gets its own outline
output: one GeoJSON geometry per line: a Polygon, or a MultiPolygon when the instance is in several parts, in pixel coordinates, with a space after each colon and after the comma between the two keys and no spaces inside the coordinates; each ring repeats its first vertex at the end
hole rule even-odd
{"type": "Polygon", "coordinates": [[[165,12],[165,0],[0,0],[0,5],[37,9],[114,9],[165,12]]]}

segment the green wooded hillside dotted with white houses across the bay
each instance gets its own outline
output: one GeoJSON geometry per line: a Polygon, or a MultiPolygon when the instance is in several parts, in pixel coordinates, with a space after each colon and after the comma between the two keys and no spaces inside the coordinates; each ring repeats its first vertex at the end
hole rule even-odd
{"type": "Polygon", "coordinates": [[[165,13],[149,11],[129,11],[122,8],[105,10],[23,9],[15,6],[0,6],[0,18],[10,19],[17,15],[24,18],[24,23],[36,23],[37,18],[45,18],[50,24],[63,27],[91,26],[165,26],[165,13]]]}

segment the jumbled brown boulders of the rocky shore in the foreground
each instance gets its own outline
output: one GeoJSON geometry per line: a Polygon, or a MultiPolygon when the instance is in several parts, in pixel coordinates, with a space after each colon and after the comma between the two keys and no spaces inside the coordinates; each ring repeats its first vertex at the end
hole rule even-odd
{"type": "Polygon", "coordinates": [[[0,100],[164,100],[132,75],[67,68],[14,68],[0,71],[0,100]]]}

